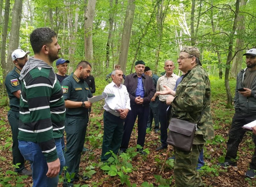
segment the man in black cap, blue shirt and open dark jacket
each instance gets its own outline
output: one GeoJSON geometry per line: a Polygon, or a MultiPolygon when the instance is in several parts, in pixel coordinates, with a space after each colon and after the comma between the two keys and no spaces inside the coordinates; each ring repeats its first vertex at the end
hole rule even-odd
{"type": "Polygon", "coordinates": [[[137,149],[141,154],[147,154],[143,151],[148,121],[148,110],[150,99],[154,96],[156,90],[151,77],[144,74],[145,62],[138,60],[135,62],[135,73],[129,74],[124,80],[130,97],[131,111],[124,121],[124,134],[120,146],[120,153],[128,148],[132,129],[138,116],[138,139],[142,149],[137,149]]]}

